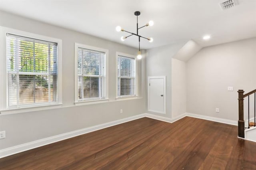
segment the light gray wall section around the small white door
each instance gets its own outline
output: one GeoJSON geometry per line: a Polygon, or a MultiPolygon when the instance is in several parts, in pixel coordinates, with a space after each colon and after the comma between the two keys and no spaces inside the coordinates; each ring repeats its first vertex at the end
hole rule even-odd
{"type": "Polygon", "coordinates": [[[172,56],[186,42],[164,45],[147,50],[146,55],[146,76],[166,76],[166,114],[152,113],[163,117],[172,117],[172,56]]]}

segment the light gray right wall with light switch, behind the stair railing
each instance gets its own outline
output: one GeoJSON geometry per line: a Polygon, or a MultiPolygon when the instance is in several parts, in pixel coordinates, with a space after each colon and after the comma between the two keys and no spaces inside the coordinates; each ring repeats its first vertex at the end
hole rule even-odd
{"type": "Polygon", "coordinates": [[[188,113],[237,121],[238,89],[256,89],[256,38],[203,48],[186,63],[186,74],[188,113]]]}

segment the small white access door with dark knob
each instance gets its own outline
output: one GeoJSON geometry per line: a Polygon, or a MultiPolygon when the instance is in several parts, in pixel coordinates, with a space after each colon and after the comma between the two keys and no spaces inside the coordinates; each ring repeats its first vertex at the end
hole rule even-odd
{"type": "Polygon", "coordinates": [[[165,114],[165,76],[148,77],[148,111],[165,114]]]}

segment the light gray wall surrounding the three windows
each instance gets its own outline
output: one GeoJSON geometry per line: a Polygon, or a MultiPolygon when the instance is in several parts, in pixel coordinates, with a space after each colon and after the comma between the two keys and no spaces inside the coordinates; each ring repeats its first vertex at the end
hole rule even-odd
{"type": "Polygon", "coordinates": [[[115,101],[116,51],[136,55],[137,49],[1,11],[0,26],[61,39],[63,68],[62,108],[0,115],[0,131],[6,131],[6,138],[0,139],[0,150],[146,112],[145,90],[143,91],[142,88],[142,85],[146,84],[144,59],[138,61],[138,95],[141,98],[115,101]],[[110,102],[74,106],[75,42],[109,50],[108,93],[110,102]],[[122,114],[120,114],[120,109],[123,109],[122,114]]]}

